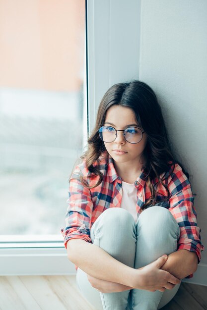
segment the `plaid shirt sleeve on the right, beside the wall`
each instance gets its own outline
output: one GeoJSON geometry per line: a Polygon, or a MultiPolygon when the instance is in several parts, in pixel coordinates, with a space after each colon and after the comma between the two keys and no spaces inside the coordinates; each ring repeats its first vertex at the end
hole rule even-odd
{"type": "MultiPolygon", "coordinates": [[[[168,184],[170,192],[169,211],[180,227],[178,251],[185,249],[195,252],[198,256],[199,263],[201,260],[201,252],[205,248],[201,243],[201,229],[197,226],[197,213],[194,208],[194,197],[191,184],[182,171],[181,166],[177,163],[170,177],[171,179],[168,184]]],[[[188,277],[193,277],[193,274],[188,277]]]]}

